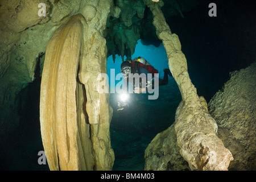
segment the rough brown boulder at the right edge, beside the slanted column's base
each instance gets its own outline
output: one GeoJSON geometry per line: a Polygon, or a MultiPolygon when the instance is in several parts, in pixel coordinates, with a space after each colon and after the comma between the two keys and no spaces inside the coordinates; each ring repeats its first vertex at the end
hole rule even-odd
{"type": "Polygon", "coordinates": [[[256,169],[256,63],[230,74],[208,107],[218,124],[218,137],[234,157],[229,169],[256,169]]]}

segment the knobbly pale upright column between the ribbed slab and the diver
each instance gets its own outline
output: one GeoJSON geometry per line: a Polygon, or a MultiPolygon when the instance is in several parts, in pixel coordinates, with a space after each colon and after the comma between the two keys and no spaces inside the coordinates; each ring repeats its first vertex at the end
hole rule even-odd
{"type": "MultiPolygon", "coordinates": [[[[113,109],[109,94],[101,93],[101,73],[106,73],[107,52],[103,31],[113,6],[113,0],[83,1],[81,14],[88,28],[84,30],[84,42],[80,56],[79,80],[86,90],[86,113],[90,123],[92,147],[96,170],[111,170],[114,151],[110,144],[110,121],[113,109]]],[[[107,83],[108,84],[108,83],[107,83]]]]}

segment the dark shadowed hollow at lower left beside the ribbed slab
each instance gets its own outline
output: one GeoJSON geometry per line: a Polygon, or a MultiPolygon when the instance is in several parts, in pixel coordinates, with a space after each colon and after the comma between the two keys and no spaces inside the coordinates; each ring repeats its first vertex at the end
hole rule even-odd
{"type": "Polygon", "coordinates": [[[49,170],[48,164],[38,164],[39,151],[43,151],[40,134],[39,101],[41,78],[28,84],[17,95],[19,127],[7,134],[1,150],[1,170],[49,170]]]}

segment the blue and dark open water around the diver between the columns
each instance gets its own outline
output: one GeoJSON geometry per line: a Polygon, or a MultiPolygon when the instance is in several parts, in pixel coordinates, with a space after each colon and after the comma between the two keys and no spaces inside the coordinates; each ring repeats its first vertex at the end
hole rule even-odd
{"type": "MultiPolygon", "coordinates": [[[[138,40],[134,55],[144,57],[151,65],[158,69],[159,78],[163,78],[164,68],[168,68],[168,60],[163,44],[159,47],[145,46],[138,40]]],[[[115,55],[108,57],[106,64],[110,78],[110,69],[115,70],[115,76],[120,73],[122,57],[115,55]]],[[[111,84],[110,85],[116,85],[111,84]]],[[[113,117],[110,123],[110,138],[115,153],[113,170],[143,170],[144,151],[156,134],[166,130],[175,120],[175,111],[181,101],[179,88],[173,77],[168,76],[168,84],[159,86],[159,96],[156,100],[148,100],[148,93],[129,94],[126,106],[118,106],[121,102],[118,93],[110,94],[110,106],[113,117]]]]}

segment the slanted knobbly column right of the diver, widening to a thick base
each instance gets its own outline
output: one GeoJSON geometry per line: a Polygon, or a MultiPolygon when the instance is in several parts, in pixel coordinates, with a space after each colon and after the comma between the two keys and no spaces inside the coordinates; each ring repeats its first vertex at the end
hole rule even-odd
{"type": "Polygon", "coordinates": [[[188,75],[187,60],[181,51],[179,38],[172,34],[160,10],[163,2],[144,2],[152,11],[156,35],[163,41],[168,65],[182,96],[174,124],[180,154],[192,170],[227,170],[233,156],[216,136],[217,124],[208,113],[207,102],[197,96],[188,75]]]}

